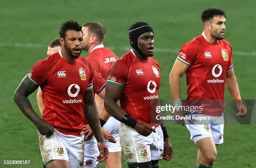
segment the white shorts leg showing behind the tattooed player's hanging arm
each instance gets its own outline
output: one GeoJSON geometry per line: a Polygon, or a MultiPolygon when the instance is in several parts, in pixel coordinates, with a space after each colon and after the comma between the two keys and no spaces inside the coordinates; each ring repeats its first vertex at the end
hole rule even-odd
{"type": "Polygon", "coordinates": [[[97,162],[97,156],[100,154],[97,140],[95,137],[84,141],[84,168],[95,168],[99,162],[97,162]]]}

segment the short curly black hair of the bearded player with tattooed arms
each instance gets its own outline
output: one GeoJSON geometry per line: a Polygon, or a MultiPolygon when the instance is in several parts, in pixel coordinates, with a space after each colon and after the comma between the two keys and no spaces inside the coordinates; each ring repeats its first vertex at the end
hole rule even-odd
{"type": "Polygon", "coordinates": [[[77,23],[77,21],[67,20],[61,24],[59,37],[65,38],[67,31],[82,31],[82,27],[77,23]]]}

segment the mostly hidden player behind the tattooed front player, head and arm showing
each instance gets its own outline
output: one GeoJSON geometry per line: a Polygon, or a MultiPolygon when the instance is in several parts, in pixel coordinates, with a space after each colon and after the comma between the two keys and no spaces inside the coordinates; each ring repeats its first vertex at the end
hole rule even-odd
{"type": "MultiPolygon", "coordinates": [[[[47,56],[51,56],[54,53],[59,52],[59,49],[61,48],[61,43],[59,42],[59,38],[56,38],[55,40],[51,41],[49,43],[48,49],[47,49],[47,56]]],[[[38,92],[36,94],[37,104],[39,111],[41,115],[43,115],[44,110],[44,103],[43,103],[43,95],[42,90],[40,87],[38,87],[38,92]]]]}

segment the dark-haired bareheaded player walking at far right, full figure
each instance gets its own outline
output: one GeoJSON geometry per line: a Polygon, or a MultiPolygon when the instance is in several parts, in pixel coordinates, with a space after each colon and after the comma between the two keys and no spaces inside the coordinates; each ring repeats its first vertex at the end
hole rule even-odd
{"type": "MultiPolygon", "coordinates": [[[[236,75],[232,63],[232,47],[225,41],[226,14],[216,8],[209,8],[202,13],[204,26],[202,35],[185,43],[179,51],[169,76],[172,99],[180,99],[179,78],[186,73],[187,99],[224,99],[225,82],[228,90],[236,100],[237,117],[246,115],[247,109],[243,105],[239,93],[236,75]]],[[[204,111],[203,111],[204,112],[204,111]]],[[[209,124],[195,124],[186,122],[191,134],[191,140],[198,148],[197,167],[211,168],[217,156],[217,146],[223,143],[224,119],[223,110],[212,114],[205,112],[197,115],[214,116],[209,124]],[[213,120],[221,120],[223,124],[216,124],[213,120]]],[[[186,115],[192,115],[190,112],[186,115]]],[[[177,121],[181,122],[182,121],[177,121]]]]}

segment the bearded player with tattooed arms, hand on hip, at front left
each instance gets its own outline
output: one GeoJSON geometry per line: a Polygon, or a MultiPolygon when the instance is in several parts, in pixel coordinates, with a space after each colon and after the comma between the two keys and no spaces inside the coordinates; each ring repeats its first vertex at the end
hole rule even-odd
{"type": "Polygon", "coordinates": [[[59,52],[38,61],[15,91],[14,101],[38,128],[39,146],[46,168],[79,168],[84,162],[83,114],[98,141],[98,161],[108,157],[94,101],[94,70],[80,56],[82,28],[68,20],[61,25],[59,52]],[[58,72],[66,71],[58,76],[58,72]],[[38,86],[45,105],[42,119],[34,112],[28,95],[38,86]]]}

